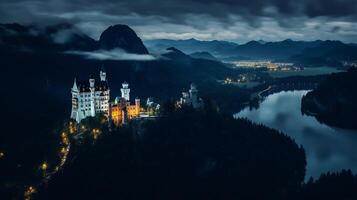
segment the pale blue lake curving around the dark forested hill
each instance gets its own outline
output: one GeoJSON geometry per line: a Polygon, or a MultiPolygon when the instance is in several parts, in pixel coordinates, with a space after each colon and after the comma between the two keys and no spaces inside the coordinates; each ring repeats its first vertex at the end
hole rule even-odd
{"type": "Polygon", "coordinates": [[[306,152],[306,180],[321,173],[351,169],[357,173],[357,131],[330,127],[302,115],[301,98],[308,91],[269,95],[258,109],[245,108],[234,115],[278,129],[301,144],[306,152]]]}

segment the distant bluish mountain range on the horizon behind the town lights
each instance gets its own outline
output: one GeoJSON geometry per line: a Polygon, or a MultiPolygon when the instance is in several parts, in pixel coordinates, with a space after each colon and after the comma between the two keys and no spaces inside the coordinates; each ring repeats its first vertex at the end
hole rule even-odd
{"type": "Polygon", "coordinates": [[[236,44],[227,41],[188,40],[149,40],[144,42],[152,52],[174,46],[181,51],[192,54],[205,51],[220,60],[268,59],[289,61],[308,66],[340,66],[342,61],[357,60],[357,45],[340,41],[293,41],[279,42],[250,41],[236,44]]]}

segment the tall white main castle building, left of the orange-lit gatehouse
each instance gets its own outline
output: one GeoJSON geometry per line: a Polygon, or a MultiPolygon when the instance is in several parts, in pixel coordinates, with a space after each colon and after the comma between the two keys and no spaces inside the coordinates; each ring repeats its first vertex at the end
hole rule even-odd
{"type": "MultiPolygon", "coordinates": [[[[88,81],[77,82],[74,79],[72,87],[71,118],[80,122],[86,117],[94,117],[97,113],[109,115],[110,89],[106,72],[100,70],[100,80],[90,76],[88,81]]],[[[129,95],[127,96],[129,98],[129,95]]]]}

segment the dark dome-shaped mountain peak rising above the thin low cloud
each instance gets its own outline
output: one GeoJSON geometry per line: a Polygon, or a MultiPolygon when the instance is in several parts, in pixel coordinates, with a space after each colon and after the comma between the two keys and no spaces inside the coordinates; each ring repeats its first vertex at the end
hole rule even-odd
{"type": "Polygon", "coordinates": [[[107,50],[120,48],[135,54],[149,53],[134,30],[122,24],[107,28],[100,36],[99,47],[107,50]]]}

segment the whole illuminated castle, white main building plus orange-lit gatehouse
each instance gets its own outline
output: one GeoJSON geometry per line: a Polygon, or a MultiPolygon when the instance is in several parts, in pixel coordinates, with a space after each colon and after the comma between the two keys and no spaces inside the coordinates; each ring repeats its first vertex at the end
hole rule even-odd
{"type": "Polygon", "coordinates": [[[72,87],[71,119],[80,122],[87,117],[94,117],[98,113],[106,115],[116,126],[125,124],[128,120],[139,117],[140,99],[136,98],[130,104],[129,84],[122,84],[121,97],[110,102],[110,89],[106,79],[106,72],[100,70],[100,80],[90,76],[88,81],[79,82],[74,79],[72,87]]]}

